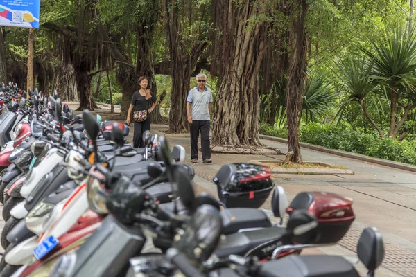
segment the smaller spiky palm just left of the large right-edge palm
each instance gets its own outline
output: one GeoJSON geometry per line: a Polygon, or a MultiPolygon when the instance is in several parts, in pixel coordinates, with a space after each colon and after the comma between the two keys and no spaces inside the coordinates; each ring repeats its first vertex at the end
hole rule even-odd
{"type": "Polygon", "coordinates": [[[367,109],[365,98],[372,93],[376,87],[376,82],[371,76],[373,63],[365,59],[365,57],[349,56],[343,62],[336,63],[340,73],[334,71],[340,81],[342,82],[342,90],[347,93],[347,98],[341,103],[340,108],[336,114],[338,123],[342,118],[347,105],[352,102],[357,102],[364,111],[365,117],[377,129],[382,139],[384,139],[383,132],[367,109]]]}

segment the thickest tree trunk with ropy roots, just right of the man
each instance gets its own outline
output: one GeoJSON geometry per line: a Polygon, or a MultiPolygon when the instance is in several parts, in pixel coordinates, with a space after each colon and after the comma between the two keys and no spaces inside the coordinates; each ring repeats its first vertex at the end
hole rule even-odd
{"type": "Polygon", "coordinates": [[[215,101],[212,143],[221,146],[261,146],[259,139],[259,72],[266,53],[267,28],[250,18],[267,8],[263,0],[242,6],[216,1],[216,27],[223,33],[220,87],[215,101]]]}

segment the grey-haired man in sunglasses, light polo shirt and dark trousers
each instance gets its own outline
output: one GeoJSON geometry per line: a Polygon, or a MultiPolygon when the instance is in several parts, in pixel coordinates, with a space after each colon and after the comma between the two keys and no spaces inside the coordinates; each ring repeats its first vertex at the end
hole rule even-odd
{"type": "Polygon", "coordinates": [[[207,76],[196,75],[197,86],[187,97],[187,115],[191,126],[191,161],[198,161],[198,137],[201,133],[202,163],[212,163],[209,149],[209,119],[212,106],[212,91],[205,87],[207,76]]]}

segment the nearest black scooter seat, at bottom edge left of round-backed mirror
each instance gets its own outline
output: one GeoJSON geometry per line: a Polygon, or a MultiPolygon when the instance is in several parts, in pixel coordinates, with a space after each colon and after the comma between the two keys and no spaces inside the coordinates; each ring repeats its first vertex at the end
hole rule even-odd
{"type": "Polygon", "coordinates": [[[340,256],[290,256],[264,263],[259,277],[358,277],[354,266],[340,256]]]}

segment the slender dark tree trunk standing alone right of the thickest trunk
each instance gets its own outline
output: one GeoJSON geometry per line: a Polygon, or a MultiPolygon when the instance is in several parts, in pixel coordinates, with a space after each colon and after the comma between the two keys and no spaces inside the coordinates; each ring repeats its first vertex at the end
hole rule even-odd
{"type": "Polygon", "coordinates": [[[291,16],[291,53],[289,58],[288,84],[286,87],[286,117],[288,122],[288,150],[293,152],[290,161],[302,163],[297,118],[302,111],[304,79],[306,76],[306,13],[307,0],[293,7],[291,16]]]}

